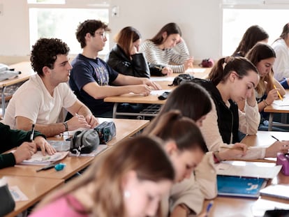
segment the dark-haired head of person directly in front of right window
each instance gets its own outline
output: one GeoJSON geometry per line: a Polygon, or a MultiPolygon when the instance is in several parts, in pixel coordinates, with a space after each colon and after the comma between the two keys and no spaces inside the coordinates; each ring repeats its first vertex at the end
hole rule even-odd
{"type": "Polygon", "coordinates": [[[232,57],[245,57],[256,43],[268,43],[268,39],[269,35],[262,27],[258,25],[251,26],[244,33],[232,57]]]}

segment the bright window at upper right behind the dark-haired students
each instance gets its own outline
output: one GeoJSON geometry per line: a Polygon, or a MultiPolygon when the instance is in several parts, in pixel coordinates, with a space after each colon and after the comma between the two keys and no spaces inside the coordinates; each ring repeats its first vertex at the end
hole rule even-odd
{"type": "Polygon", "coordinates": [[[246,29],[256,24],[267,31],[272,45],[289,22],[288,13],[288,0],[223,0],[222,55],[231,55],[246,29]]]}

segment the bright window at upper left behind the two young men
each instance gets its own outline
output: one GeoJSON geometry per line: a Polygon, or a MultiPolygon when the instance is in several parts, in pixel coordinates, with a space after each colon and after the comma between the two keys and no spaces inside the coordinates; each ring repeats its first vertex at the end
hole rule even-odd
{"type": "MultiPolygon", "coordinates": [[[[30,46],[34,45],[39,38],[60,38],[68,44],[71,49],[70,54],[78,54],[81,52],[80,43],[75,37],[78,24],[87,19],[109,22],[109,5],[106,2],[90,4],[87,0],[27,1],[29,3],[30,46]]],[[[109,37],[104,50],[99,54],[108,53],[108,45],[109,37]]]]}

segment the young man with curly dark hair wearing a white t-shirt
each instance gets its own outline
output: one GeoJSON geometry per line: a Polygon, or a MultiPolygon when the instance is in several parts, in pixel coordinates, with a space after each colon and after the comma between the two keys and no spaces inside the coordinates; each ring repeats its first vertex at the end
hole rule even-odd
{"type": "Polygon", "coordinates": [[[29,130],[35,124],[35,129],[47,137],[77,128],[94,128],[98,124],[66,84],[71,70],[68,52],[66,43],[57,38],[40,38],[32,46],[31,66],[37,74],[13,94],[4,124],[20,130],[29,130]],[[57,123],[62,108],[75,116],[57,123]]]}

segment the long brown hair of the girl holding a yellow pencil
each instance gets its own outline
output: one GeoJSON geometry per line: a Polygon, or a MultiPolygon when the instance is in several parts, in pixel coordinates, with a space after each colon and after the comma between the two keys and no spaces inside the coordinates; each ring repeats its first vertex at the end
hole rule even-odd
{"type": "MultiPolygon", "coordinates": [[[[249,59],[255,66],[263,60],[263,59],[269,59],[269,58],[276,58],[276,53],[273,50],[273,48],[265,43],[257,43],[254,47],[248,52],[246,55],[246,58],[249,59]]],[[[267,89],[272,90],[274,89],[274,77],[273,77],[273,71],[264,76],[260,77],[260,80],[257,84],[257,87],[255,90],[258,94],[264,95],[266,91],[266,85],[265,82],[267,82],[267,89]]]]}

